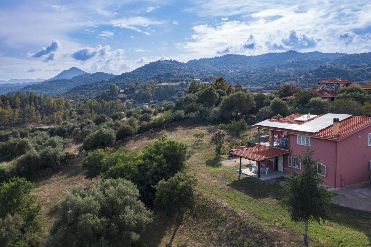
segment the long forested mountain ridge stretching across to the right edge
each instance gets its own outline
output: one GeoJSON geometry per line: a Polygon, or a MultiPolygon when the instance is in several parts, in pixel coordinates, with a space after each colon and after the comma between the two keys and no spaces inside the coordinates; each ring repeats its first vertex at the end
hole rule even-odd
{"type": "Polygon", "coordinates": [[[357,82],[366,82],[371,80],[371,75],[368,75],[367,70],[368,64],[371,64],[371,53],[300,53],[296,51],[266,53],[258,56],[224,55],[190,60],[187,63],[163,60],[122,73],[109,82],[100,81],[93,85],[77,86],[67,94],[78,92],[91,95],[101,92],[111,83],[124,87],[127,83],[134,83],[138,80],[178,82],[200,78],[209,81],[217,76],[223,76],[229,83],[239,82],[243,86],[265,86],[266,89],[271,90],[278,89],[285,82],[311,87],[318,80],[340,76],[357,82]]]}

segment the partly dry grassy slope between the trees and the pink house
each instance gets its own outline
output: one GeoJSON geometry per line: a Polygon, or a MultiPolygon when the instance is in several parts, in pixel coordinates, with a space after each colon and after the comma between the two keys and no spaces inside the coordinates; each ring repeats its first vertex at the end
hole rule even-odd
{"type": "MultiPolygon", "coordinates": [[[[173,246],[301,246],[304,224],[291,222],[280,204],[283,179],[261,181],[239,176],[237,163],[234,167],[218,164],[214,159],[214,146],[208,144],[215,129],[215,126],[175,123],[120,144],[129,150],[140,150],[164,134],[182,141],[188,145],[191,154],[187,169],[198,179],[200,198],[196,208],[184,215],[183,223],[178,225],[174,219],[157,214],[141,240],[147,246],[166,246],[168,243],[173,246]],[[198,144],[193,137],[199,131],[205,133],[203,144],[198,144]]],[[[96,182],[83,178],[83,171],[77,167],[79,162],[75,159],[63,171],[35,181],[34,193],[42,203],[42,219],[49,227],[54,220],[56,204],[63,199],[70,185],[90,187],[96,182]]],[[[309,224],[311,245],[370,246],[369,213],[334,204],[332,211],[332,220],[309,224]]]]}

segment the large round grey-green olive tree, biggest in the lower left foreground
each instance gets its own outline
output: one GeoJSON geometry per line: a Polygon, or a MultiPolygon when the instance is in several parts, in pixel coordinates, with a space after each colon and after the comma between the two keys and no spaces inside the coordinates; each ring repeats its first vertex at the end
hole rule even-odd
{"type": "Polygon", "coordinates": [[[135,185],[108,179],[88,190],[70,189],[59,203],[53,246],[131,246],[152,221],[135,185]]]}

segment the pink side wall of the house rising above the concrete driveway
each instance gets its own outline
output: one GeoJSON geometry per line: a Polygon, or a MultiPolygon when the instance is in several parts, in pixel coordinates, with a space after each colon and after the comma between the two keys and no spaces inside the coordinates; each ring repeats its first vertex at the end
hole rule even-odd
{"type": "Polygon", "coordinates": [[[336,188],[342,186],[341,180],[344,186],[370,180],[368,133],[371,133],[371,126],[338,142],[336,188]]]}

